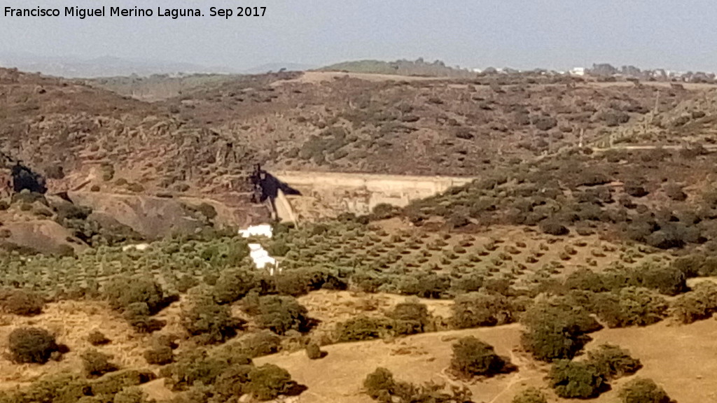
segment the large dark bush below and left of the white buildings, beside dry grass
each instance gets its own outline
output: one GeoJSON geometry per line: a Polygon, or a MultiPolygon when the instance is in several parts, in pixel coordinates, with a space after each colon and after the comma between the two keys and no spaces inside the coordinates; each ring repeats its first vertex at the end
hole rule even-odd
{"type": "Polygon", "coordinates": [[[219,305],[206,296],[197,298],[189,310],[183,310],[180,321],[186,331],[198,336],[202,343],[222,343],[234,337],[243,324],[232,317],[227,305],[219,305]]]}

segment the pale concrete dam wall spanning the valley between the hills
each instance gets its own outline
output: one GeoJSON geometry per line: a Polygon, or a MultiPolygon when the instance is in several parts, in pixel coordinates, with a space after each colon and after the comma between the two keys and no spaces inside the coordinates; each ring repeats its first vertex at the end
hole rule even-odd
{"type": "MultiPolygon", "coordinates": [[[[308,171],[277,171],[273,174],[301,192],[301,196],[286,196],[293,214],[299,219],[331,217],[342,212],[368,214],[381,203],[404,207],[412,200],[433,196],[475,179],[308,171]]],[[[285,214],[280,215],[284,218],[285,214]]]]}

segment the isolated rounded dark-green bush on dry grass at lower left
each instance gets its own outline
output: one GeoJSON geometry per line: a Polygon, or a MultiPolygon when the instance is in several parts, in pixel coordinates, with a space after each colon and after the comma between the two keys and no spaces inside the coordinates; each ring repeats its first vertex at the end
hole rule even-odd
{"type": "Polygon", "coordinates": [[[8,336],[10,359],[16,363],[46,363],[60,347],[54,336],[40,328],[16,328],[8,336]]]}

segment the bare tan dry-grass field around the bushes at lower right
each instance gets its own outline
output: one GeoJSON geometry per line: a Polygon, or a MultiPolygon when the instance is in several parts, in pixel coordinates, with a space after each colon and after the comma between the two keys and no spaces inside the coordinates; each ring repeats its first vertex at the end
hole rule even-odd
{"type": "MultiPolygon", "coordinates": [[[[637,376],[650,377],[662,384],[677,402],[703,403],[717,397],[717,384],[711,376],[717,368],[713,354],[717,349],[716,334],[717,321],[714,320],[688,326],[658,323],[645,328],[593,333],[595,340],[587,349],[605,342],[628,349],[644,365],[637,376]]],[[[425,333],[389,343],[364,341],[325,346],[323,349],[328,356],[313,361],[306,358],[303,351],[298,351],[262,357],[257,362],[282,366],[294,379],[306,384],[309,389],[300,402],[369,403],[371,399],[361,394],[361,382],[378,366],[386,367],[398,379],[407,381],[455,382],[444,370],[450,361],[452,341],[462,336],[476,336],[495,346],[498,354],[510,357],[519,367],[516,373],[471,383],[476,402],[509,403],[516,392],[528,386],[549,392],[543,381],[548,366],[536,364],[519,351],[519,325],[425,333]]],[[[612,392],[590,401],[615,402],[617,389],[629,379],[614,381],[612,392]]],[[[551,401],[569,402],[552,396],[551,401]]]]}

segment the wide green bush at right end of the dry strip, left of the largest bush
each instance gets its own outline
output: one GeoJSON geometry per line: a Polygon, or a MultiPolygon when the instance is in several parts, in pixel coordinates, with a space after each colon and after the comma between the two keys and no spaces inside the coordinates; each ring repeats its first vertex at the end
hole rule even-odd
{"type": "Polygon", "coordinates": [[[496,293],[467,293],[458,295],[452,306],[452,325],[455,328],[497,326],[513,321],[513,309],[508,298],[496,293]]]}

